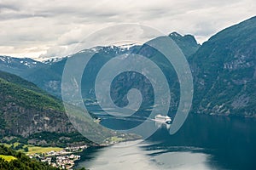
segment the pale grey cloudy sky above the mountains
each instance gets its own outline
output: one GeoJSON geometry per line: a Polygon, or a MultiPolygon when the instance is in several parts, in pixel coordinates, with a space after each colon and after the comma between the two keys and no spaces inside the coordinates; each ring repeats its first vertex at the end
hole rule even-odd
{"type": "MultiPolygon", "coordinates": [[[[83,37],[136,23],[206,41],[255,14],[255,0],[0,0],[0,54],[65,56],[83,37]]],[[[143,41],[143,40],[142,40],[143,41]]]]}

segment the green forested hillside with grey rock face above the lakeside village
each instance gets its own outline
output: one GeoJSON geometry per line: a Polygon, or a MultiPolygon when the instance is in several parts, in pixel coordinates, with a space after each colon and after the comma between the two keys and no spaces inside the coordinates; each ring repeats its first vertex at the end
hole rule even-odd
{"type": "MultiPolygon", "coordinates": [[[[69,121],[61,100],[43,92],[32,82],[0,71],[1,140],[26,139],[31,144],[60,145],[90,143],[69,121]],[[7,138],[8,137],[8,138],[7,138]],[[12,138],[10,138],[12,137],[12,138]]],[[[79,108],[73,107],[76,114],[79,108]]],[[[72,117],[70,117],[72,118],[72,117]]],[[[83,116],[83,131],[103,141],[116,133],[104,129],[83,116]]]]}

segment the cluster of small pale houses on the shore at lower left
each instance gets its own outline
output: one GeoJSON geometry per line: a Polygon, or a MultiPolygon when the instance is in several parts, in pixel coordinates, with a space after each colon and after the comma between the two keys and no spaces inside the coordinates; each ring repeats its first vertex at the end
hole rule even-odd
{"type": "Polygon", "coordinates": [[[75,161],[80,159],[78,153],[86,148],[87,145],[67,147],[60,151],[51,150],[46,153],[31,154],[29,157],[37,159],[38,161],[47,162],[52,167],[72,170],[75,161]]]}

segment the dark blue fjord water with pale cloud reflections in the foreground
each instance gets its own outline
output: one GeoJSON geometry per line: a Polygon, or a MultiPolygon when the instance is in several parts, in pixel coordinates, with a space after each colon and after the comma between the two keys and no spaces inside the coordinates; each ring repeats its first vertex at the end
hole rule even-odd
{"type": "MultiPolygon", "coordinates": [[[[107,121],[107,120],[105,120],[107,121]]],[[[174,135],[85,150],[78,167],[100,169],[256,169],[256,121],[190,114],[174,135]]]]}

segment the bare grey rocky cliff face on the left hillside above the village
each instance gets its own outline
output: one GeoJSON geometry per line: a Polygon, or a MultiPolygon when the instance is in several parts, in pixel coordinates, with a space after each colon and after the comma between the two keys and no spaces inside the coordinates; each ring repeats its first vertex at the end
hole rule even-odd
{"type": "Polygon", "coordinates": [[[29,137],[34,133],[72,133],[76,132],[61,111],[27,109],[15,103],[2,108],[2,118],[5,120],[3,135],[21,135],[29,137]]]}

